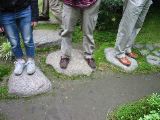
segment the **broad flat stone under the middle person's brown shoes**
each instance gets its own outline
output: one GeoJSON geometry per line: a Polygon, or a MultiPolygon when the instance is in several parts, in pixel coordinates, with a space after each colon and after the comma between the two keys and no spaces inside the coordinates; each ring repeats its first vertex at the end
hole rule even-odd
{"type": "Polygon", "coordinates": [[[68,76],[89,76],[93,72],[93,70],[88,66],[87,62],[84,60],[84,57],[80,50],[72,50],[71,60],[66,70],[61,69],[59,65],[61,55],[61,51],[56,51],[49,54],[46,60],[46,64],[53,66],[53,68],[58,73],[62,73],[68,76]]]}

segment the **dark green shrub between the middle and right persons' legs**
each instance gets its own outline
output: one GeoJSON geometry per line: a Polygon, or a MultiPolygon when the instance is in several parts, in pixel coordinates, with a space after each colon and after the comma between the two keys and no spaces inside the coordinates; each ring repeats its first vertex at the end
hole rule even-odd
{"type": "Polygon", "coordinates": [[[122,0],[102,0],[97,28],[99,30],[117,29],[122,16],[122,0]]]}

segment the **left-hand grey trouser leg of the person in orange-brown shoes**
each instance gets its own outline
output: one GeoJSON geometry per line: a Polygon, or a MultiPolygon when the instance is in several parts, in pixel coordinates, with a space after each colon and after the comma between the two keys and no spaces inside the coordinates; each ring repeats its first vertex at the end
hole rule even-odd
{"type": "Polygon", "coordinates": [[[140,13],[146,3],[146,0],[128,0],[127,6],[121,19],[115,49],[118,58],[125,57],[125,50],[130,36],[140,13]]]}

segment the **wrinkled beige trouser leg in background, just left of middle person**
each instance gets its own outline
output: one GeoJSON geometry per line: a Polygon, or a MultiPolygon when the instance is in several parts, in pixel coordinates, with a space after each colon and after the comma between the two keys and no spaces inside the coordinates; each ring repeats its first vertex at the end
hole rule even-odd
{"type": "Polygon", "coordinates": [[[62,23],[62,5],[60,0],[49,0],[51,12],[60,24],[62,23]]]}

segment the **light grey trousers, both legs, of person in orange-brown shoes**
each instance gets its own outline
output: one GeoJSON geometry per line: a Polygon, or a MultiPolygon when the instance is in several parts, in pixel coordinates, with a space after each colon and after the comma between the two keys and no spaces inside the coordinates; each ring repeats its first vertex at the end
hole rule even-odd
{"type": "Polygon", "coordinates": [[[135,38],[142,28],[152,0],[126,0],[116,39],[116,55],[125,57],[130,53],[135,38]]]}

